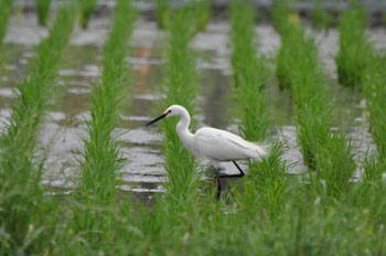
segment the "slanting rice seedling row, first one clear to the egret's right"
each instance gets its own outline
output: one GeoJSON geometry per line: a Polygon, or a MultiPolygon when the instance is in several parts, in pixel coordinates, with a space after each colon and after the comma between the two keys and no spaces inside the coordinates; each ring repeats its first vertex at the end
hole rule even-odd
{"type": "MultiPolygon", "coordinates": [[[[282,18],[278,18],[282,19],[282,18]]],[[[314,40],[294,24],[281,23],[277,76],[297,105],[298,141],[309,170],[318,172],[329,194],[344,190],[355,170],[351,142],[332,130],[332,102],[324,86],[314,40]]],[[[311,174],[311,173],[310,173],[311,174]]]]}

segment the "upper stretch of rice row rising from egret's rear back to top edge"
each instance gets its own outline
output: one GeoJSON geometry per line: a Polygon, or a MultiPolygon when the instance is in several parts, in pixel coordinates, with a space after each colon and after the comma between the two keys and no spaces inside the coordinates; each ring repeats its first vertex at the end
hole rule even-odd
{"type": "Polygon", "coordinates": [[[254,20],[248,4],[237,1],[233,3],[232,66],[243,115],[239,129],[246,139],[261,141],[267,137],[270,122],[265,109],[264,93],[269,71],[264,56],[257,58],[254,20]]]}

